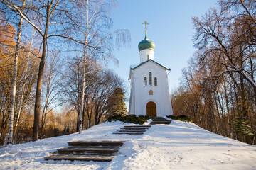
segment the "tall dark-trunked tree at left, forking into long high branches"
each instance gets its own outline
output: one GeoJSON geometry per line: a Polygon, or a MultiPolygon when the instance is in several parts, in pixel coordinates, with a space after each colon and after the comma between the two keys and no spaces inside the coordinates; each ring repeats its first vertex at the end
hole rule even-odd
{"type": "MultiPolygon", "coordinates": [[[[45,66],[45,60],[47,55],[47,43],[49,38],[62,37],[69,38],[68,36],[56,34],[63,26],[67,26],[69,19],[65,18],[65,13],[68,12],[68,5],[65,0],[45,0],[45,1],[32,1],[31,6],[26,6],[33,17],[39,18],[39,23],[33,22],[33,19],[23,13],[21,6],[16,4],[16,1],[1,0],[3,4],[9,7],[16,14],[21,16],[26,22],[28,22],[36,30],[38,35],[41,35],[42,50],[41,50],[41,62],[38,68],[38,80],[36,83],[36,101],[34,108],[34,125],[33,125],[33,141],[38,140],[39,130],[39,117],[41,111],[41,87],[43,80],[43,69],[45,66]],[[61,18],[62,17],[62,18],[61,18]],[[64,17],[64,18],[63,18],[64,17]],[[67,24],[65,24],[67,23],[67,24]]],[[[58,32],[59,33],[59,32],[58,32]]]]}

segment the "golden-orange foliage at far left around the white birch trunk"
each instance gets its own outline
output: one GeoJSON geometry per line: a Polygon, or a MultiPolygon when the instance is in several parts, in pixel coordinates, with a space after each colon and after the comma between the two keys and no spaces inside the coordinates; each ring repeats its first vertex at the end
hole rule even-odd
{"type": "MultiPolygon", "coordinates": [[[[16,30],[9,23],[2,23],[0,26],[0,145],[4,145],[5,134],[9,123],[10,92],[14,67],[14,50],[16,45],[16,30]]],[[[30,55],[27,45],[22,45],[18,52],[18,72],[16,84],[16,103],[14,108],[14,130],[18,132],[18,127],[31,126],[31,115],[27,107],[33,101],[31,91],[36,83],[36,68],[38,58],[30,55]],[[19,126],[21,125],[21,126],[19,126]]],[[[33,50],[33,53],[38,50],[33,50]]],[[[14,137],[17,137],[14,134],[14,137]]]]}

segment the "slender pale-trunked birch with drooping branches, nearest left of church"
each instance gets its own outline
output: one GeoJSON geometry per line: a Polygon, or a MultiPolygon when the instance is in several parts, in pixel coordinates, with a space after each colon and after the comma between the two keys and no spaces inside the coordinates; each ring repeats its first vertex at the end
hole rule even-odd
{"type": "Polygon", "coordinates": [[[118,46],[129,42],[128,30],[114,30],[110,32],[112,20],[107,16],[111,6],[115,1],[97,0],[97,1],[73,1],[74,6],[78,8],[78,15],[82,22],[78,23],[78,39],[76,42],[82,44],[82,86],[80,86],[80,113],[78,113],[78,131],[82,132],[82,115],[85,111],[85,76],[86,65],[88,61],[110,60],[112,57],[112,38],[116,37],[118,46]]]}

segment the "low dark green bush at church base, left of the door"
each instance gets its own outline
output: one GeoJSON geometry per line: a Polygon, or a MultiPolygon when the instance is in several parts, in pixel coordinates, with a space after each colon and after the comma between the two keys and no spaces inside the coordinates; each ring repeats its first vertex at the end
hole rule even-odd
{"type": "Polygon", "coordinates": [[[153,119],[153,117],[147,116],[147,115],[139,115],[139,116],[136,116],[136,115],[125,115],[125,116],[112,115],[107,119],[107,121],[111,122],[111,121],[119,120],[124,123],[135,123],[135,124],[142,125],[146,122],[146,120],[149,120],[149,119],[153,119]]]}

